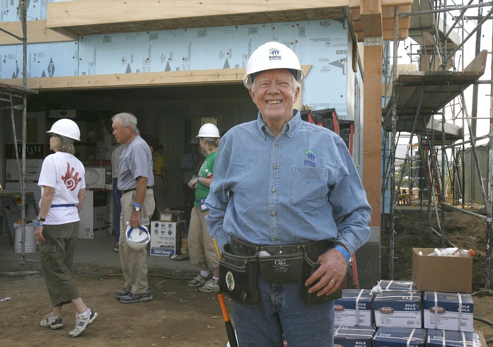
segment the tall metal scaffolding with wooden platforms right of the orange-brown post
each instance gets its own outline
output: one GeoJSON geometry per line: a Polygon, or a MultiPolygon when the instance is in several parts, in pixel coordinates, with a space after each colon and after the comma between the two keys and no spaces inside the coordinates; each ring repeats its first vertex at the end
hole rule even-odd
{"type": "MultiPolygon", "coordinates": [[[[390,141],[387,155],[389,165],[384,168],[382,184],[382,196],[387,189],[390,190],[390,279],[393,279],[395,206],[397,203],[406,203],[419,205],[421,209],[427,205],[429,227],[431,228],[431,218],[434,215],[437,218],[438,230],[431,230],[440,236],[442,247],[445,247],[445,208],[472,214],[486,222],[485,287],[490,288],[493,68],[487,80],[480,78],[485,73],[488,53],[493,66],[493,42],[488,50],[481,50],[482,27],[491,19],[493,2],[483,3],[480,0],[476,4],[472,3],[473,0],[469,0],[467,4],[454,3],[453,6],[448,6],[447,0],[435,1],[433,4],[429,0],[415,0],[412,12],[400,13],[399,8],[395,11],[395,16],[411,18],[410,36],[416,43],[408,46],[408,54],[411,61],[419,62],[420,69],[397,72],[395,57],[399,41],[395,34],[392,75],[387,76],[385,80],[386,90],[391,84],[392,93],[388,102],[385,96],[386,107],[383,109],[384,133],[390,134],[387,135],[390,141]],[[477,15],[471,16],[471,11],[476,10],[477,15]],[[477,21],[470,32],[465,28],[468,21],[477,21]],[[476,57],[464,67],[464,45],[471,37],[476,37],[476,57]],[[483,84],[490,85],[491,93],[489,117],[481,118],[478,116],[478,88],[483,84]],[[464,96],[464,90],[469,86],[473,89],[470,113],[464,96]],[[489,132],[485,136],[476,134],[478,119],[489,119],[489,132]],[[395,152],[401,133],[408,134],[406,136],[409,137],[409,141],[400,169],[401,175],[396,177],[395,152]],[[487,141],[486,170],[481,167],[478,159],[479,140],[487,141]],[[471,161],[479,176],[477,184],[481,190],[480,203],[484,205],[484,215],[465,208],[466,150],[471,153],[471,161]],[[409,185],[405,194],[401,191],[404,176],[407,176],[409,185]],[[484,184],[483,177],[486,178],[484,184]]],[[[397,29],[394,30],[395,33],[397,29]]],[[[388,63],[387,60],[385,63],[388,63]]]]}

